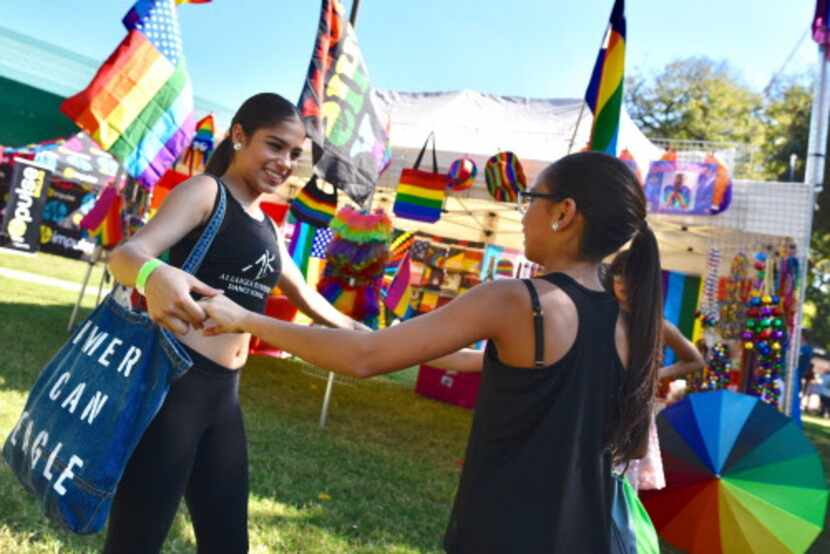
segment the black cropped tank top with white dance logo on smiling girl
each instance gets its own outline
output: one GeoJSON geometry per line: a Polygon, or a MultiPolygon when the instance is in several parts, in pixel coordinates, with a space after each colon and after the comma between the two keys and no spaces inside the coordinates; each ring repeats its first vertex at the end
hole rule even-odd
{"type": "MultiPolygon", "coordinates": [[[[262,313],[282,270],[274,225],[267,215],[262,221],[251,217],[221,179],[216,182],[218,186],[225,187],[228,207],[219,233],[196,272],[196,278],[211,287],[222,289],[237,304],[262,313]]],[[[217,194],[213,211],[216,211],[218,203],[217,194]]],[[[173,245],[170,249],[171,265],[182,266],[206,224],[199,225],[173,245]]]]}

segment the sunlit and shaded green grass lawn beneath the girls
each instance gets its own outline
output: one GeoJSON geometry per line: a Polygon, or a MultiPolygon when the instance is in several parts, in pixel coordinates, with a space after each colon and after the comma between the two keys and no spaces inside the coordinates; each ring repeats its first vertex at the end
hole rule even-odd
{"type": "MultiPolygon", "coordinates": [[[[0,267],[79,282],[86,265],[0,252],[0,267]]],[[[97,285],[97,281],[93,281],[97,285]]],[[[0,277],[0,441],[40,368],[66,339],[76,295],[0,277]]],[[[86,297],[84,314],[94,297],[86,297]]],[[[250,447],[251,552],[432,553],[458,483],[471,413],[412,392],[415,371],[338,381],[328,426],[317,421],[326,373],[290,360],[252,358],[241,400],[250,447]]],[[[808,418],[808,436],[830,470],[830,422],[808,418]]],[[[47,522],[0,463],[0,552],[98,552],[47,522]]],[[[664,552],[678,552],[663,545],[664,552]]],[[[164,552],[193,552],[186,510],[164,552]]],[[[810,552],[830,552],[830,534],[810,552]]]]}

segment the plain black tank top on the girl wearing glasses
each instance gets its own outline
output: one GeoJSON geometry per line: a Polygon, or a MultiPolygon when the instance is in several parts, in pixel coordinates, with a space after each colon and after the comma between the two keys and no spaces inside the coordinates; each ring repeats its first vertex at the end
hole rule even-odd
{"type": "Polygon", "coordinates": [[[450,553],[610,551],[613,481],[606,447],[622,362],[618,305],[562,273],[542,277],[576,305],[573,347],[545,366],[538,296],[536,367],[511,367],[490,341],[464,469],[444,540],[450,553]]]}

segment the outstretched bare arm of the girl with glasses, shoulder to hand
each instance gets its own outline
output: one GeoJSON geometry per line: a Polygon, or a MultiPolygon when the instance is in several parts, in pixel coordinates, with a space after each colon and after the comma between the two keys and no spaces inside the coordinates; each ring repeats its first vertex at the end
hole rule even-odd
{"type": "Polygon", "coordinates": [[[371,377],[456,352],[479,339],[499,339],[511,284],[479,285],[446,306],[375,333],[294,325],[245,310],[224,295],[200,303],[211,319],[204,333],[247,332],[338,373],[371,377]]]}

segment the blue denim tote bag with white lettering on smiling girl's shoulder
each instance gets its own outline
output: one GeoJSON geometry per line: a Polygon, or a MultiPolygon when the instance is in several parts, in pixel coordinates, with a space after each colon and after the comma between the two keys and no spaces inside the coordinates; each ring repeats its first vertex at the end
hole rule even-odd
{"type": "MultiPolygon", "coordinates": [[[[216,209],[182,269],[195,273],[225,215],[216,209]]],[[[193,362],[172,333],[108,295],[41,372],[3,457],[50,519],[100,531],[118,481],[170,383],[193,362]]]]}

